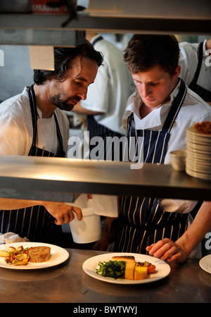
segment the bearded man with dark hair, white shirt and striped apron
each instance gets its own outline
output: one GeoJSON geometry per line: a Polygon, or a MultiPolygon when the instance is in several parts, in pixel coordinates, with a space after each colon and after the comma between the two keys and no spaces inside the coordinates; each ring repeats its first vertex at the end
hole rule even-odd
{"type": "MultiPolygon", "coordinates": [[[[0,106],[0,154],[64,157],[69,125],[65,111],[86,99],[103,61],[89,42],[54,49],[55,70],[34,70],[34,85],[0,106]]],[[[82,211],[60,202],[0,199],[0,232],[61,244],[61,224],[82,211]]]]}

